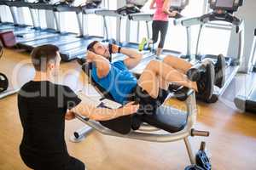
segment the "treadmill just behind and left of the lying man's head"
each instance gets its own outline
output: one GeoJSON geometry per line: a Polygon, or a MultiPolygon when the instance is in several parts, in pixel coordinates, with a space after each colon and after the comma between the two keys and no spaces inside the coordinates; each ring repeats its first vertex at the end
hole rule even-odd
{"type": "MultiPolygon", "coordinates": [[[[39,45],[44,44],[53,44],[60,48],[61,58],[65,61],[76,59],[79,55],[84,55],[85,48],[93,40],[102,40],[102,37],[84,37],[84,13],[87,8],[90,8],[90,11],[93,10],[92,7],[98,8],[101,3],[97,0],[92,3],[84,3],[79,6],[73,6],[73,2],[62,2],[53,4],[53,12],[55,16],[55,25],[56,31],[61,33],[60,21],[57,17],[58,13],[61,12],[75,12],[77,16],[77,21],[79,24],[79,36],[76,37],[74,34],[61,33],[57,37],[46,37],[36,41],[28,41],[19,43],[21,48],[26,48],[27,50],[32,50],[32,48],[38,47],[39,45]],[[94,5],[93,5],[94,4],[94,5]],[[83,12],[83,14],[82,14],[83,12]],[[82,19],[80,19],[82,15],[82,19]],[[64,34],[64,35],[63,35],[64,34]]],[[[86,13],[87,14],[87,13],[86,13]]]]}

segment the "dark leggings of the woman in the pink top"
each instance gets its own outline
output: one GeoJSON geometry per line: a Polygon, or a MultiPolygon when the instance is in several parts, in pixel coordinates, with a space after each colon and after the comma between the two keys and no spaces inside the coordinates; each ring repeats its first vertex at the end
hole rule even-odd
{"type": "Polygon", "coordinates": [[[163,20],[153,20],[152,23],[152,40],[153,43],[157,42],[158,40],[158,35],[160,32],[160,43],[158,44],[158,48],[164,48],[164,44],[166,41],[166,33],[168,30],[168,21],[163,21],[163,20]]]}

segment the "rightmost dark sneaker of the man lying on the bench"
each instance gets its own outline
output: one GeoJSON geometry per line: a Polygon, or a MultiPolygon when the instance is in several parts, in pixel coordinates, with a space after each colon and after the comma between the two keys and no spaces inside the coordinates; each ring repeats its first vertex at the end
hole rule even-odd
{"type": "Polygon", "coordinates": [[[214,67],[214,70],[215,70],[214,84],[218,88],[222,88],[224,86],[224,82],[225,82],[225,67],[226,67],[226,61],[225,61],[223,54],[218,55],[217,62],[214,66],[215,66],[214,67]]]}

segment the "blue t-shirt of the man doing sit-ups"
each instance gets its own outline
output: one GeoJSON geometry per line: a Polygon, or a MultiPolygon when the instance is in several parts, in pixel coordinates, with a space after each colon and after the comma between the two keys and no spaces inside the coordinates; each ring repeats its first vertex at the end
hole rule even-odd
{"type": "Polygon", "coordinates": [[[96,66],[92,67],[92,78],[102,88],[107,90],[113,99],[120,104],[124,104],[127,95],[131,94],[133,88],[137,86],[137,78],[128,70],[124,61],[116,61],[110,64],[110,71],[106,77],[98,78],[96,66]]]}

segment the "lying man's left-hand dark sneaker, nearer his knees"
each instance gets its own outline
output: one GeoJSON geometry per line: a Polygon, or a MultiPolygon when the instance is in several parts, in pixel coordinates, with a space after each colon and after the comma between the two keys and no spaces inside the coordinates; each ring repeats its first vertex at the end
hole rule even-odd
{"type": "Polygon", "coordinates": [[[207,99],[212,98],[215,74],[212,60],[204,59],[203,63],[206,67],[206,71],[201,72],[201,79],[197,81],[198,93],[196,98],[207,101],[207,99]]]}

